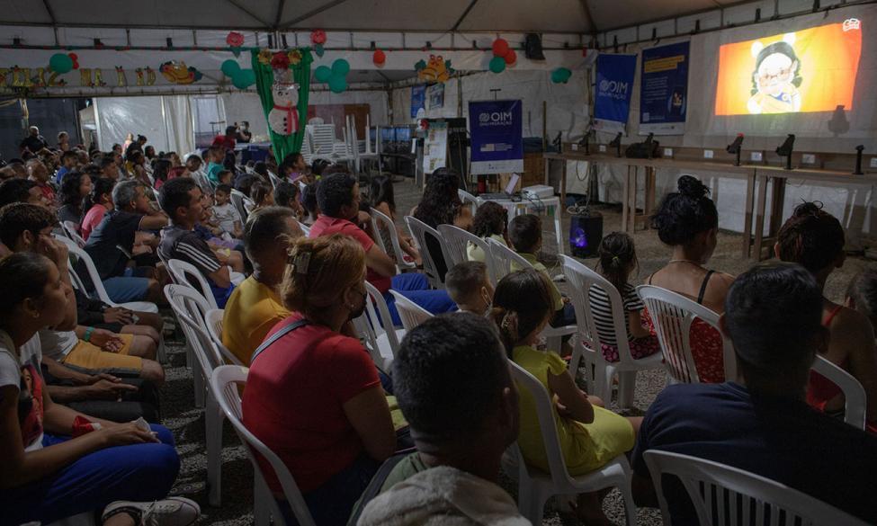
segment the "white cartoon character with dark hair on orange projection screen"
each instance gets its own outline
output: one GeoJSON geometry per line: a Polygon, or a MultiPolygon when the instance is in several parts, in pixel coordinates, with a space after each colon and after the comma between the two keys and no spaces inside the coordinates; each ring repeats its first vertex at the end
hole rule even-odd
{"type": "Polygon", "coordinates": [[[783,40],[765,46],[752,44],[756,69],[752,74],[752,96],[749,113],[788,113],[801,110],[801,61],[792,47],[794,33],[786,33],[783,40]]]}

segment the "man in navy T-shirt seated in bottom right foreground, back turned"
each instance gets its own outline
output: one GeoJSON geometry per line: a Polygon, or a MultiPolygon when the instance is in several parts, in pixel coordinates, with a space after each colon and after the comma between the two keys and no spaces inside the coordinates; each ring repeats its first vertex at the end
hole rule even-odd
{"type": "MultiPolygon", "coordinates": [[[[873,487],[877,437],[805,402],[810,366],[828,345],[821,317],[822,290],[797,264],[763,263],[738,276],[720,318],[738,379],[658,395],[633,454],[638,503],[656,505],[643,453],[664,450],[745,469],[877,523],[871,492],[851,489],[873,487]]],[[[676,477],[665,477],[664,494],[674,524],[697,524],[676,477]]]]}

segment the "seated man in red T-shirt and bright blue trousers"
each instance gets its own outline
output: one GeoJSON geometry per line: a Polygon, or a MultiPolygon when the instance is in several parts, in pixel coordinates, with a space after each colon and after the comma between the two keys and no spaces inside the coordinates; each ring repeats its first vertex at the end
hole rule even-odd
{"type": "Polygon", "coordinates": [[[365,250],[365,279],[380,290],[387,301],[393,325],[401,325],[396,301],[389,290],[396,290],[407,299],[433,314],[456,309],[444,290],[430,290],[423,274],[396,274],[396,263],[380,250],[371,232],[368,214],[359,211],[359,183],[350,174],[330,174],[322,178],[317,189],[320,217],[310,228],[310,237],[344,234],[355,239],[365,250]],[[357,221],[356,224],[353,221],[357,221]]]}

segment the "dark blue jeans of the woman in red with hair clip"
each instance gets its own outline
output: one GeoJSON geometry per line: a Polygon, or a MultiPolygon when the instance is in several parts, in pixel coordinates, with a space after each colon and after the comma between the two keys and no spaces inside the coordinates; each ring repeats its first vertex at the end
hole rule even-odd
{"type": "MultiPolygon", "coordinates": [[[[323,486],[302,495],[314,522],[320,526],[345,526],[350,519],[353,504],[369,486],[371,477],[378,472],[380,462],[362,453],[350,466],[329,478],[323,486]]],[[[297,526],[290,504],[278,500],[283,520],[287,526],[297,526]]]]}

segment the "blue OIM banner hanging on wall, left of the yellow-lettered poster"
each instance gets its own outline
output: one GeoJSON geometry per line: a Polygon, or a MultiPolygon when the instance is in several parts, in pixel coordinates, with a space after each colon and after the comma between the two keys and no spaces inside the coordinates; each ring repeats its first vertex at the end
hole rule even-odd
{"type": "Polygon", "coordinates": [[[600,131],[623,131],[631,111],[633,76],[637,71],[636,55],[597,57],[597,82],[594,128],[600,131]]]}

